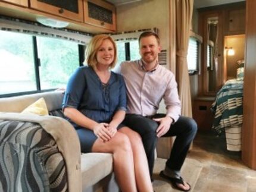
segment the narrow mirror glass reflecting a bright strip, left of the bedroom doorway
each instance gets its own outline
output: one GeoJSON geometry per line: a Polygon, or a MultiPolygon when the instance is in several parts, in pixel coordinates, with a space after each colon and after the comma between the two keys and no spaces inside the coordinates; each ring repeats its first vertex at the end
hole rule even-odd
{"type": "Polygon", "coordinates": [[[218,17],[207,19],[207,92],[216,91],[218,66],[218,17]]]}

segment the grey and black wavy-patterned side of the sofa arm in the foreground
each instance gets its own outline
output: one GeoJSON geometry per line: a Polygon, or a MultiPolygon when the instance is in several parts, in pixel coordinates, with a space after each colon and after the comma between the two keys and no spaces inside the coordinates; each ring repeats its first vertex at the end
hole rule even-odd
{"type": "Polygon", "coordinates": [[[67,191],[56,141],[40,124],[0,121],[0,191],[67,191]]]}

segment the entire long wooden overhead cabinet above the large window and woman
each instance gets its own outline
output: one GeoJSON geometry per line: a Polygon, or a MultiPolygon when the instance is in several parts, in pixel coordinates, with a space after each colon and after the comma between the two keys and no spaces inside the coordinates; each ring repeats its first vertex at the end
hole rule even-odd
{"type": "Polygon", "coordinates": [[[87,33],[116,30],[114,5],[99,0],[0,0],[0,15],[35,22],[39,17],[65,21],[67,29],[87,33]]]}

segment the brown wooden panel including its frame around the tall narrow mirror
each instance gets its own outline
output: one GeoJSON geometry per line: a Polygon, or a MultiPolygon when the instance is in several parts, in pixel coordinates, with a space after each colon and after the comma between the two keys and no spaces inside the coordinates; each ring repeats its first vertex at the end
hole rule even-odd
{"type": "Polygon", "coordinates": [[[199,34],[203,37],[199,95],[215,96],[223,83],[223,27],[221,11],[201,12],[199,34]]]}

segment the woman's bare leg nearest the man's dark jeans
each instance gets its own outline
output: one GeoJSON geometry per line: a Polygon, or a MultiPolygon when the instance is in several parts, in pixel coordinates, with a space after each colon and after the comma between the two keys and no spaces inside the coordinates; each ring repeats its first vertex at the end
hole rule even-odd
{"type": "Polygon", "coordinates": [[[132,144],[133,159],[135,163],[135,178],[138,190],[152,192],[153,187],[148,169],[148,160],[146,159],[141,136],[128,127],[123,127],[118,130],[118,132],[126,134],[132,144]]]}

